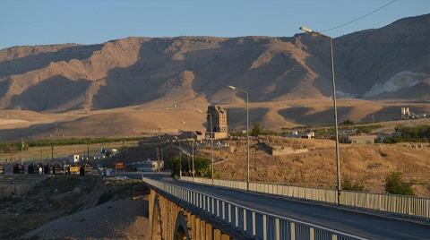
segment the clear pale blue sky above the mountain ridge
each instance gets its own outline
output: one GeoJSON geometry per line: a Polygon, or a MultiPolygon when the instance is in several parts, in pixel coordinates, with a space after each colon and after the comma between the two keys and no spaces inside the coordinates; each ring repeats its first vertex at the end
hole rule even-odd
{"type": "MultiPolygon", "coordinates": [[[[0,0],[0,49],[93,44],[126,37],[293,36],[327,30],[391,0],[0,0]]],[[[430,13],[430,0],[397,0],[337,30],[339,37],[430,13]]]]}

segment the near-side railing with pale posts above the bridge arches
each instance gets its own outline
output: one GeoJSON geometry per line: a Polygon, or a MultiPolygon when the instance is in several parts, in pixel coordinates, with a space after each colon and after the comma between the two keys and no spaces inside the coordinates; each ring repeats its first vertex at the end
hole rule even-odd
{"type": "Polygon", "coordinates": [[[178,200],[185,201],[193,207],[207,212],[213,218],[228,224],[230,227],[244,232],[247,236],[254,236],[257,239],[366,239],[296,219],[253,210],[210,194],[200,193],[173,184],[164,184],[147,177],[142,177],[142,180],[159,189],[159,191],[168,193],[178,200]]]}

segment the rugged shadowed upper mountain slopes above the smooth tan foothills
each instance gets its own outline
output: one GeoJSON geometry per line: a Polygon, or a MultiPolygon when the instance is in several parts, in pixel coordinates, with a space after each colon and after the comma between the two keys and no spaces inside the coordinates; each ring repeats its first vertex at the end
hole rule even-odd
{"type": "MultiPolygon", "coordinates": [[[[334,39],[340,97],[430,99],[430,14],[334,39]]],[[[64,112],[331,96],[327,39],[128,38],[0,50],[0,108],[64,112]]]]}

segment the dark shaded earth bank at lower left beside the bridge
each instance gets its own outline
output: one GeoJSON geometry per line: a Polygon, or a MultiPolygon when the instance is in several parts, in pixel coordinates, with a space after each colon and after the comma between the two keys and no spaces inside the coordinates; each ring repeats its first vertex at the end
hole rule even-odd
{"type": "Polygon", "coordinates": [[[148,202],[131,200],[139,184],[100,176],[48,177],[29,193],[0,198],[0,238],[150,239],[148,202]]]}

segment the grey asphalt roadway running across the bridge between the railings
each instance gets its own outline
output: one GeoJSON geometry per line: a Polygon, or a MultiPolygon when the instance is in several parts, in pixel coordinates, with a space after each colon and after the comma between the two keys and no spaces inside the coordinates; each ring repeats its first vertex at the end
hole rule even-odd
{"type": "MultiPolygon", "coordinates": [[[[140,174],[129,177],[139,176],[140,174]]],[[[358,213],[357,210],[345,210],[331,205],[291,201],[259,193],[246,193],[210,185],[191,184],[177,181],[166,174],[145,173],[144,176],[211,194],[254,210],[305,221],[369,239],[430,239],[430,222],[418,224],[400,218],[384,218],[369,213],[358,213]]]]}

